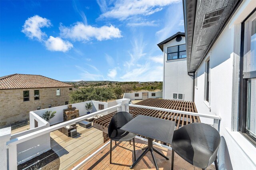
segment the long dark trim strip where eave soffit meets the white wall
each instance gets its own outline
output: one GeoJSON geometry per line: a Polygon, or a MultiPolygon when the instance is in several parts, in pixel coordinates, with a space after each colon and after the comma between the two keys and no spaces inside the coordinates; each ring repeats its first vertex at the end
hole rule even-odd
{"type": "Polygon", "coordinates": [[[222,31],[224,30],[224,28],[226,27],[226,25],[228,24],[228,22],[231,20],[232,16],[234,15],[234,13],[236,12],[236,10],[238,9],[238,7],[240,6],[240,4],[243,2],[243,0],[237,0],[236,2],[236,6],[233,8],[232,12],[230,13],[230,15],[228,16],[228,18],[226,19],[226,21],[224,22],[224,24],[222,25],[221,29],[219,29],[218,33],[215,35],[213,41],[210,43],[208,49],[206,50],[204,57],[201,59],[200,63],[198,64],[198,66],[196,67],[196,70],[198,69],[198,67],[200,66],[200,64],[202,64],[202,62],[204,61],[204,59],[206,58],[206,56],[208,55],[208,53],[210,52],[210,50],[212,49],[212,46],[214,45],[214,43],[217,41],[218,37],[220,36],[220,34],[222,33],[222,31]]]}

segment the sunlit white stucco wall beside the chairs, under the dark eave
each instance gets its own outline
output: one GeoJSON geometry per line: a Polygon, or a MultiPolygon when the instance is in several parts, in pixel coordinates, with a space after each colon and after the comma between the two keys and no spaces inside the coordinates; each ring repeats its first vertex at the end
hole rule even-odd
{"type": "MultiPolygon", "coordinates": [[[[232,124],[233,59],[236,54],[239,55],[239,52],[236,52],[238,50],[236,47],[240,46],[240,23],[255,7],[255,1],[242,2],[205,59],[207,61],[208,57],[210,57],[209,103],[204,102],[205,61],[197,69],[197,88],[195,88],[194,97],[196,108],[199,113],[219,115],[221,117],[220,135],[226,140],[234,170],[256,169],[256,148],[239,132],[231,130],[234,126],[232,124]],[[235,29],[237,27],[239,30],[235,29]]],[[[238,86],[238,84],[235,86],[238,86]]],[[[202,117],[200,119],[203,123],[213,123],[202,117]]],[[[237,120],[234,123],[237,123],[237,120]]],[[[224,166],[227,167],[222,168],[231,169],[230,165],[224,166]]]]}

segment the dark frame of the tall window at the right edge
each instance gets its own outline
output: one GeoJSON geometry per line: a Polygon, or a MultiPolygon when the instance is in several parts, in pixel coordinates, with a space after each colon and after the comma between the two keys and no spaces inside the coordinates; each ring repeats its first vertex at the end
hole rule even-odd
{"type": "MultiPolygon", "coordinates": [[[[241,39],[240,39],[240,83],[239,83],[239,109],[238,109],[238,131],[248,139],[254,146],[256,146],[256,138],[250,135],[246,129],[247,125],[247,107],[248,107],[248,80],[256,78],[256,74],[250,74],[251,72],[244,72],[244,45],[245,45],[245,22],[255,14],[256,9],[254,9],[241,23],[241,39]]],[[[251,28],[249,28],[251,29],[251,28]]],[[[248,39],[246,39],[248,41],[248,39]]],[[[252,71],[254,72],[254,71],[252,71]]]]}

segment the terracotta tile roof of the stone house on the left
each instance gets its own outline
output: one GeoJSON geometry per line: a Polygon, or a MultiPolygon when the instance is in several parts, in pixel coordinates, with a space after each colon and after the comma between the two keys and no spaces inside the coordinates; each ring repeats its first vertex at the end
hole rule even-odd
{"type": "Polygon", "coordinates": [[[11,74],[0,77],[0,89],[74,87],[70,84],[40,75],[11,74]]]}

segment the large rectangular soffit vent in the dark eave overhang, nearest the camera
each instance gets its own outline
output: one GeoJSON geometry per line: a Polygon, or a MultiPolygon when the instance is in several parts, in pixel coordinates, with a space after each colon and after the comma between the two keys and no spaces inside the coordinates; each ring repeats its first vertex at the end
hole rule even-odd
{"type": "Polygon", "coordinates": [[[218,10],[205,14],[202,22],[202,29],[217,25],[225,8],[226,7],[220,8],[218,10]]]}

